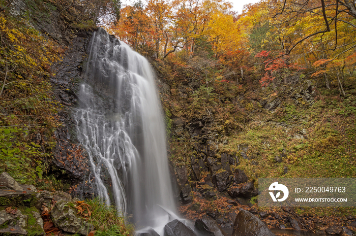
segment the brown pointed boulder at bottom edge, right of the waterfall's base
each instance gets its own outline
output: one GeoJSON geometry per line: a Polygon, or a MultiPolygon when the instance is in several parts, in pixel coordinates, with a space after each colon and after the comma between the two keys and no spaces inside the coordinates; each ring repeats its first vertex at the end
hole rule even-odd
{"type": "Polygon", "coordinates": [[[257,216],[242,210],[236,216],[232,236],[275,236],[275,234],[257,216]]]}

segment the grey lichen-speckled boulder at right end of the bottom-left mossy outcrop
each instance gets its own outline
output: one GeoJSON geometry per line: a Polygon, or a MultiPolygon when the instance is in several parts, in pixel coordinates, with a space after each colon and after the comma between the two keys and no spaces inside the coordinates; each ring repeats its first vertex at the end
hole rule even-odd
{"type": "Polygon", "coordinates": [[[81,219],[76,212],[68,206],[68,201],[60,199],[50,211],[55,227],[70,233],[87,235],[94,230],[94,226],[81,219]]]}

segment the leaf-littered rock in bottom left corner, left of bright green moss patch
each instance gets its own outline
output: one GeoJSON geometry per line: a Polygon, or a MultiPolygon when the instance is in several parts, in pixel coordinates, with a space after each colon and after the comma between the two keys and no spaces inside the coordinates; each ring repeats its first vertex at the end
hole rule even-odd
{"type": "Polygon", "coordinates": [[[0,211],[0,234],[2,235],[27,235],[28,217],[16,210],[14,214],[0,211]]]}

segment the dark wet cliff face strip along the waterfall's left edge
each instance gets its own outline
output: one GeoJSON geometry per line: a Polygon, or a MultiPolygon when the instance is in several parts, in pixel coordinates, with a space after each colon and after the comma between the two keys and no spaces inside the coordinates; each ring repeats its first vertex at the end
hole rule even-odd
{"type": "Polygon", "coordinates": [[[54,132],[56,145],[52,150],[53,162],[51,173],[63,182],[75,185],[72,193],[75,196],[91,198],[94,194],[92,186],[84,179],[91,179],[91,168],[88,166],[84,150],[77,145],[75,122],[72,118],[73,108],[80,103],[78,88],[82,82],[82,65],[86,57],[86,47],[92,32],[80,31],[70,41],[63,60],[57,62],[53,68],[55,76],[50,78],[55,88],[55,98],[63,106],[58,112],[57,119],[63,125],[54,132]]]}

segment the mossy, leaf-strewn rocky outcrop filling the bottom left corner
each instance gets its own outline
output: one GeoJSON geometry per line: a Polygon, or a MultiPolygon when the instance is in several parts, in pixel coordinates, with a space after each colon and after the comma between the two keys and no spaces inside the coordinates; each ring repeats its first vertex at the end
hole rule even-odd
{"type": "Polygon", "coordinates": [[[7,173],[0,175],[0,187],[0,207],[5,209],[0,211],[0,234],[45,235],[41,213],[46,215],[48,208],[58,230],[87,235],[94,229],[70,207],[75,201],[68,193],[38,191],[32,185],[20,185],[7,173]]]}

